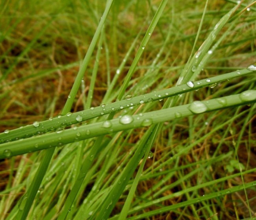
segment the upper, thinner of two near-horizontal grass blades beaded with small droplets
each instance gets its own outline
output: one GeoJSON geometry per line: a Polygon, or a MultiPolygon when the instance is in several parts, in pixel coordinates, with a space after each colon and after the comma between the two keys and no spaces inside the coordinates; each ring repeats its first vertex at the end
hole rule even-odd
{"type": "Polygon", "coordinates": [[[164,99],[167,97],[173,97],[175,95],[183,94],[186,92],[190,92],[193,90],[198,90],[200,88],[204,88],[206,86],[210,86],[211,84],[217,84],[222,81],[226,81],[227,79],[233,79],[236,77],[242,77],[245,75],[249,75],[254,73],[250,70],[244,69],[239,71],[234,71],[231,73],[226,73],[223,75],[218,75],[216,77],[210,77],[205,80],[199,80],[193,82],[193,87],[188,87],[186,84],[176,86],[173,88],[161,90],[155,92],[153,94],[145,94],[139,95],[137,97],[133,97],[131,100],[122,100],[115,103],[106,104],[104,106],[104,110],[102,106],[98,106],[95,108],[91,108],[88,110],[83,110],[76,113],[68,113],[66,116],[58,116],[56,118],[50,118],[49,120],[35,123],[35,125],[27,125],[26,127],[17,128],[14,130],[6,131],[0,134],[0,141],[2,143],[7,141],[13,141],[20,138],[31,137],[37,134],[43,134],[49,131],[59,131],[61,132],[61,128],[64,129],[67,125],[73,125],[78,122],[86,121],[98,116],[102,116],[105,114],[109,114],[111,112],[120,111],[122,109],[129,108],[132,102],[132,106],[141,105],[144,103],[148,103],[151,101],[164,99]],[[37,126],[38,125],[38,126],[37,126]],[[22,131],[22,132],[20,132],[22,131]]]}

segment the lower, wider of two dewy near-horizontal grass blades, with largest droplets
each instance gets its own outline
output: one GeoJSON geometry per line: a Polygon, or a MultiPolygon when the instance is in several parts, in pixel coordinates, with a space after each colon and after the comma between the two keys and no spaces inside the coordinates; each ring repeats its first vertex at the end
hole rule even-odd
{"type": "Polygon", "coordinates": [[[231,108],[239,105],[247,105],[255,103],[255,99],[256,90],[247,90],[237,95],[230,95],[208,101],[196,101],[191,104],[148,112],[142,115],[123,116],[120,119],[109,120],[107,123],[104,121],[70,128],[57,132],[58,136],[56,136],[56,133],[50,133],[43,136],[21,139],[19,141],[2,144],[0,148],[0,158],[8,158],[10,156],[43,150],[54,146],[61,147],[73,141],[80,141],[102,134],[109,134],[131,128],[149,126],[180,117],[192,116],[194,114],[231,108]]]}

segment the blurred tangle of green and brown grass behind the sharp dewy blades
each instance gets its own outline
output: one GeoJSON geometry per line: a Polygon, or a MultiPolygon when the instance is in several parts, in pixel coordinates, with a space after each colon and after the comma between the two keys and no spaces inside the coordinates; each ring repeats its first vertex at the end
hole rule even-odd
{"type": "MultiPolygon", "coordinates": [[[[180,76],[184,81],[180,78],[179,83],[186,84],[191,76],[200,81],[243,72],[256,61],[255,6],[247,7],[253,1],[238,5],[237,1],[213,0],[206,9],[204,1],[163,1],[167,4],[152,31],[148,27],[156,21],[160,2],[113,2],[87,60],[81,86],[71,97],[74,103],[70,112],[124,97],[130,103],[128,95],[153,96],[154,91],[174,87],[180,76]],[[223,27],[216,27],[235,6],[230,18],[226,16],[228,23],[223,21],[223,27]],[[211,48],[213,45],[216,48],[211,48]],[[209,49],[212,53],[207,53],[209,49]],[[193,68],[197,59],[205,59],[203,70],[193,68]]],[[[1,132],[63,112],[105,7],[102,1],[1,2],[1,132]]],[[[75,126],[82,129],[107,117],[143,114],[255,90],[255,79],[255,72],[242,77],[237,74],[234,79],[174,99],[159,97],[159,101],[130,105],[115,115],[82,120],[75,126]]],[[[253,218],[254,124],[255,104],[251,104],[176,117],[100,138],[77,141],[78,136],[54,151],[27,219],[63,219],[67,213],[67,219],[101,219],[103,215],[111,219],[126,215],[130,219],[253,218]],[[126,179],[129,175],[131,178],[126,179]],[[79,184],[80,189],[76,187],[79,184]],[[120,196],[115,195],[118,193],[120,196]],[[74,202],[70,203],[72,196],[74,202]]],[[[65,125],[71,127],[74,125],[65,125]]],[[[27,151],[0,162],[1,219],[15,219],[18,211],[22,218],[19,213],[26,205],[26,192],[44,157],[44,151],[27,151]]]]}

